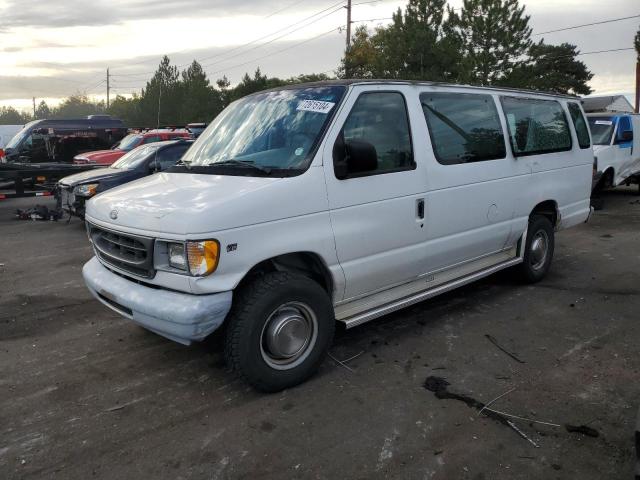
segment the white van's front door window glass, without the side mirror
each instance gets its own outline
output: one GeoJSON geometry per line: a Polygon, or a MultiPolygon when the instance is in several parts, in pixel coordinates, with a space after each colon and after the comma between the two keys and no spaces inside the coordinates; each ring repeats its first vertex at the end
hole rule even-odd
{"type": "Polygon", "coordinates": [[[415,168],[407,108],[400,93],[360,95],[342,133],[346,144],[367,142],[375,147],[378,165],[371,174],[415,168]]]}

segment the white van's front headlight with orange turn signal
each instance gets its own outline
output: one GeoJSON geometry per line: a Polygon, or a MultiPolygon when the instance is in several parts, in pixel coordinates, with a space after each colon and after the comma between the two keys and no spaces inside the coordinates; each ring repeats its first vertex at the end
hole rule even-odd
{"type": "Polygon", "coordinates": [[[169,266],[195,277],[209,275],[218,267],[220,244],[217,240],[169,243],[167,247],[169,266]]]}

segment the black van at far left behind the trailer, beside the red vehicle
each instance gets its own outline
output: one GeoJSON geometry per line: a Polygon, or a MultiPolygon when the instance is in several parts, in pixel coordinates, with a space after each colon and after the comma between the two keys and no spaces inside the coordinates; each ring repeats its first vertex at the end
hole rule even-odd
{"type": "Polygon", "coordinates": [[[27,123],[0,151],[2,163],[69,163],[81,152],[105,148],[127,133],[122,120],[109,115],[27,123]]]}

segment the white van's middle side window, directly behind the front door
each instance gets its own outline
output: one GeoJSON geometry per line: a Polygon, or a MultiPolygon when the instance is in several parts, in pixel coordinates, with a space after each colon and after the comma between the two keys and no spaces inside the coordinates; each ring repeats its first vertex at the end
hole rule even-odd
{"type": "Polygon", "coordinates": [[[441,164],[505,158],[504,134],[490,95],[425,92],[420,103],[441,164]]]}

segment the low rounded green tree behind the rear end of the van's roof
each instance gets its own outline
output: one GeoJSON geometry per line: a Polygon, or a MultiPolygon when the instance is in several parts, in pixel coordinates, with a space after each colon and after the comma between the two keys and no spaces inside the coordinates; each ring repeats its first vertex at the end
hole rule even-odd
{"type": "Polygon", "coordinates": [[[587,66],[576,59],[575,45],[548,45],[541,40],[529,48],[528,60],[516,66],[500,84],[545,92],[589,95],[593,78],[587,66]]]}

